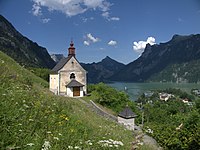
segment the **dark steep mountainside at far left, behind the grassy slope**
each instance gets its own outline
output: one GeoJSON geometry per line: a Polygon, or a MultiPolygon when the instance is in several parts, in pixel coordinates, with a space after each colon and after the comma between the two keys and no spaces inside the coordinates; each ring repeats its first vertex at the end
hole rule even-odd
{"type": "Polygon", "coordinates": [[[0,50],[25,67],[52,68],[55,65],[46,48],[24,37],[1,15],[0,50]]]}

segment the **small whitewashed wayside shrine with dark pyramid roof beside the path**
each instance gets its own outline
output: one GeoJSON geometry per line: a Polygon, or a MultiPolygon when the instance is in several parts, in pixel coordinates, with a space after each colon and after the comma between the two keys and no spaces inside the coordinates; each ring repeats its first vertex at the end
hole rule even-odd
{"type": "Polygon", "coordinates": [[[134,130],[135,127],[135,113],[130,107],[126,106],[122,112],[118,114],[118,123],[123,124],[127,129],[134,130]]]}

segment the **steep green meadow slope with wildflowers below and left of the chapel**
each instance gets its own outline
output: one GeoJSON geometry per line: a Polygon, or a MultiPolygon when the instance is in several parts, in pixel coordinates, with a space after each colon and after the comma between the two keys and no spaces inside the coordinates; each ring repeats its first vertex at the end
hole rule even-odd
{"type": "Polygon", "coordinates": [[[45,87],[47,82],[0,52],[0,149],[41,149],[44,143],[51,149],[130,149],[130,131],[45,87]],[[124,145],[102,147],[106,141],[99,141],[109,139],[124,145]]]}

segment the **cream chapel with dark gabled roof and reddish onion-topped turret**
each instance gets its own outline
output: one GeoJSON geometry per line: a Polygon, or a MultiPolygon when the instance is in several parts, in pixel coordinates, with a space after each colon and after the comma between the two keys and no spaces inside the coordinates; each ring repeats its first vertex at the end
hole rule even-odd
{"type": "Polygon", "coordinates": [[[52,69],[49,77],[49,89],[57,95],[82,97],[87,93],[86,70],[75,55],[74,43],[68,48],[68,57],[61,59],[52,69]]]}

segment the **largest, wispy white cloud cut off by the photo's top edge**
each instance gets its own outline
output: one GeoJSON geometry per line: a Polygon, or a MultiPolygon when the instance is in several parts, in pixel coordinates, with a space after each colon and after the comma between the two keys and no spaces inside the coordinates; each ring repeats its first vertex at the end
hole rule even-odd
{"type": "Polygon", "coordinates": [[[33,15],[41,13],[42,7],[49,11],[60,11],[67,16],[82,14],[89,9],[99,9],[102,12],[108,11],[111,4],[107,0],[32,0],[34,2],[33,15]]]}

